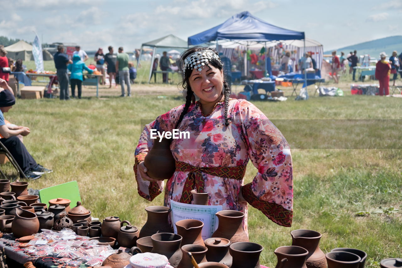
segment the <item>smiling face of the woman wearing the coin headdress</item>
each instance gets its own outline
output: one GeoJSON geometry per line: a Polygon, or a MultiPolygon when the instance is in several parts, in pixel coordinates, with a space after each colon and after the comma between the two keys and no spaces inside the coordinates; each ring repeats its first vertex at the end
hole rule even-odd
{"type": "Polygon", "coordinates": [[[189,84],[201,103],[212,103],[221,97],[224,85],[223,71],[211,65],[205,66],[201,72],[193,69],[189,84]]]}

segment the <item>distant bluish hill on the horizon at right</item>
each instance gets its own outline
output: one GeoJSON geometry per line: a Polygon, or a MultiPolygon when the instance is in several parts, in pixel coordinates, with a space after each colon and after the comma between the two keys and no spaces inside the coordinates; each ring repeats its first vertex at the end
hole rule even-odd
{"type": "MultiPolygon", "coordinates": [[[[402,52],[402,35],[390,36],[381,39],[376,39],[372,41],[367,41],[364,43],[359,43],[356,45],[349,45],[347,47],[342,47],[336,49],[336,54],[340,55],[340,52],[345,52],[347,55],[349,52],[357,50],[357,54],[379,57],[379,54],[383,51],[389,56],[392,52],[396,50],[398,55],[402,52]]],[[[331,54],[332,51],[326,51],[324,54],[331,54]]]]}

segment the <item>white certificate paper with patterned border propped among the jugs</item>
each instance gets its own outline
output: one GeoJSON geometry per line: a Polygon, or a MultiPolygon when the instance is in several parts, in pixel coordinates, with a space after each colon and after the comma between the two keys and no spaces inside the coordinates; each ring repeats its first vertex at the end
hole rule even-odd
{"type": "Polygon", "coordinates": [[[174,233],[177,233],[176,222],[187,219],[199,220],[204,223],[201,232],[204,240],[211,237],[218,228],[218,218],[215,213],[222,210],[222,206],[192,205],[173,200],[170,200],[170,208],[172,209],[174,233]]]}

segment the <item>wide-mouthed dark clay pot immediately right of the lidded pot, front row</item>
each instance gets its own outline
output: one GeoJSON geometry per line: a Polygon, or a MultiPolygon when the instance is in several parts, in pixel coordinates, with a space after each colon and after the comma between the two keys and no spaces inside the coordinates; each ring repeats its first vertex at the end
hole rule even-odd
{"type": "Polygon", "coordinates": [[[252,242],[237,242],[229,246],[233,257],[231,268],[260,268],[260,254],[264,247],[252,242]]]}

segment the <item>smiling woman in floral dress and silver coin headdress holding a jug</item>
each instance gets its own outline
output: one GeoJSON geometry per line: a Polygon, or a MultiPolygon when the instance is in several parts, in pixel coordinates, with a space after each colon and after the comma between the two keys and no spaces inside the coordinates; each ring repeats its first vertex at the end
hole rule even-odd
{"type": "Polygon", "coordinates": [[[186,103],[146,125],[135,149],[134,172],[138,193],[153,200],[165,188],[170,200],[193,203],[190,191],[208,193],[209,205],[246,214],[247,203],[278,225],[290,227],[293,209],[293,173],[289,144],[281,132],[252,103],[229,99],[223,64],[207,47],[193,47],[180,56],[186,103]],[[199,101],[195,102],[195,95],[199,101]],[[177,129],[189,138],[173,139],[173,176],[166,181],[147,174],[144,158],[158,142],[151,134],[177,129]],[[243,185],[251,159],[258,169],[252,183],[243,185]]]}

